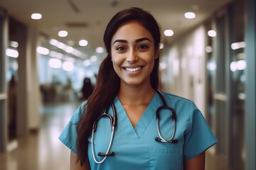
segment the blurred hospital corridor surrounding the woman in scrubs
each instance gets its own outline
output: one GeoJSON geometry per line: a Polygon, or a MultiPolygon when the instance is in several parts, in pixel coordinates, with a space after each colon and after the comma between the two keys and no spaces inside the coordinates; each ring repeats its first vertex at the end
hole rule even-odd
{"type": "Polygon", "coordinates": [[[1,0],[1,170],[69,169],[58,136],[96,83],[108,21],[132,6],[162,28],[162,90],[218,138],[206,169],[256,169],[255,0],[1,0]]]}

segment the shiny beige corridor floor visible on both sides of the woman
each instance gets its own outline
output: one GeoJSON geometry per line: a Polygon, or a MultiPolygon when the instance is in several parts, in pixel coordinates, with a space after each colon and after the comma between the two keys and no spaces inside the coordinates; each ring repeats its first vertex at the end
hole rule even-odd
{"type": "MultiPolygon", "coordinates": [[[[41,128],[27,137],[10,142],[10,152],[0,154],[1,170],[70,169],[70,151],[58,136],[79,103],[62,103],[41,108],[41,128]],[[15,148],[15,149],[14,149],[15,148]]],[[[206,152],[206,170],[231,170],[214,149],[206,152]]]]}

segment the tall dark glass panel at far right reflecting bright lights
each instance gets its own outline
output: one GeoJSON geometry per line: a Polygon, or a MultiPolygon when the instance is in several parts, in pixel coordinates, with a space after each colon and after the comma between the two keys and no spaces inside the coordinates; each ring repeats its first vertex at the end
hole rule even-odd
{"type": "Polygon", "coordinates": [[[245,169],[245,1],[230,8],[231,159],[235,169],[245,169]]]}

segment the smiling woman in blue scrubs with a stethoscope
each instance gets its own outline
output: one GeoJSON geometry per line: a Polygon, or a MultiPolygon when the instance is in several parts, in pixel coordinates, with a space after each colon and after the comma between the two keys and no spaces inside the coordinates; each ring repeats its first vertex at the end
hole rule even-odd
{"type": "Polygon", "coordinates": [[[205,151],[217,140],[203,115],[192,101],[157,92],[160,31],[142,8],[119,11],[108,23],[95,89],[60,135],[71,169],[204,169],[205,151]],[[172,108],[159,113],[159,134],[156,111],[165,102],[172,108]],[[97,118],[114,111],[111,130],[107,116],[97,118]]]}

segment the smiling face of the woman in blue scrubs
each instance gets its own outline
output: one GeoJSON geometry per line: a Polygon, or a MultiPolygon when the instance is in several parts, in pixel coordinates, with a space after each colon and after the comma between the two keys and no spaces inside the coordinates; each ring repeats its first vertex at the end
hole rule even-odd
{"type": "Polygon", "coordinates": [[[149,85],[157,52],[154,38],[141,23],[129,21],[120,26],[112,37],[111,57],[121,85],[149,85]]]}

